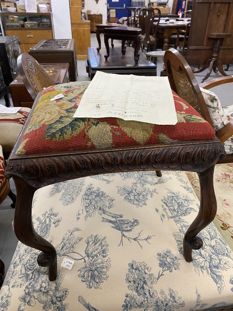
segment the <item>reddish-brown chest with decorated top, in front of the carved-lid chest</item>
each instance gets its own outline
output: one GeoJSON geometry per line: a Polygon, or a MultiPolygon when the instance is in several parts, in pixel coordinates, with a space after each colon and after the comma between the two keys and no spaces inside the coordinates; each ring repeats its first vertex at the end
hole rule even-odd
{"type": "MultiPolygon", "coordinates": [[[[70,82],[69,80],[69,63],[41,63],[54,84],[70,82]]],[[[14,107],[32,108],[34,100],[26,89],[20,75],[16,77],[9,85],[11,99],[14,107]]]]}

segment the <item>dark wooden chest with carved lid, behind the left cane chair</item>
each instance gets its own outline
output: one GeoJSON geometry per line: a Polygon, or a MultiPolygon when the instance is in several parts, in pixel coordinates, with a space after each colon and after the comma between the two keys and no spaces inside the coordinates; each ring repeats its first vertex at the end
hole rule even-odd
{"type": "Polygon", "coordinates": [[[70,81],[78,75],[75,39],[43,39],[28,53],[39,63],[69,63],[70,81]]]}

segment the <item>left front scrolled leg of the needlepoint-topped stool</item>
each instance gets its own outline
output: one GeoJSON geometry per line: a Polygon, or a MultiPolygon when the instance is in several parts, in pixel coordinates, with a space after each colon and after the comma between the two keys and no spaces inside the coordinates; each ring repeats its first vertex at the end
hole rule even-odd
{"type": "Polygon", "coordinates": [[[32,199],[37,189],[18,176],[12,177],[16,185],[17,194],[14,216],[16,237],[23,244],[42,251],[37,258],[38,265],[48,267],[48,278],[50,281],[54,281],[57,277],[56,249],[35,232],[32,223],[32,199]]]}

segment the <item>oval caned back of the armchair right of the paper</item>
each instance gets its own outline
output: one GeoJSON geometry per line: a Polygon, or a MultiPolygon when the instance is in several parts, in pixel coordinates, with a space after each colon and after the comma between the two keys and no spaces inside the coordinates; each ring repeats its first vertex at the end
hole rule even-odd
{"type": "Polygon", "coordinates": [[[185,58],[176,49],[170,49],[164,54],[164,63],[171,89],[212,125],[198,82],[185,58]]]}

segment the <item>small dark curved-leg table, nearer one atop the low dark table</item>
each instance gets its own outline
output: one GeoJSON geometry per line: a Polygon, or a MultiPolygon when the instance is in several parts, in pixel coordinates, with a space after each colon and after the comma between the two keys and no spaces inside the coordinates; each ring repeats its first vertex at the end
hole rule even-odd
{"type": "Polygon", "coordinates": [[[111,28],[104,28],[104,43],[107,50],[107,54],[104,55],[105,59],[109,57],[109,44],[108,39],[118,39],[121,40],[121,53],[125,55],[126,53],[126,46],[125,41],[130,40],[134,41],[135,48],[134,48],[134,60],[135,63],[138,63],[139,60],[139,43],[142,40],[141,36],[141,29],[136,27],[128,27],[128,26],[119,26],[119,27],[111,27],[111,28]]]}

